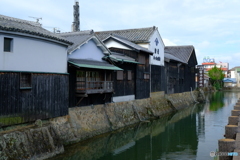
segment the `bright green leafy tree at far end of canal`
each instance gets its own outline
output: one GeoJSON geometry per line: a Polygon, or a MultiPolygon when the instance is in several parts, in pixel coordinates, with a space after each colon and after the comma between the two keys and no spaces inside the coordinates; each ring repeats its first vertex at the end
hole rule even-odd
{"type": "Polygon", "coordinates": [[[214,66],[208,71],[208,75],[210,77],[212,86],[214,86],[217,90],[221,89],[223,86],[222,80],[224,78],[224,73],[222,72],[221,68],[214,66]]]}

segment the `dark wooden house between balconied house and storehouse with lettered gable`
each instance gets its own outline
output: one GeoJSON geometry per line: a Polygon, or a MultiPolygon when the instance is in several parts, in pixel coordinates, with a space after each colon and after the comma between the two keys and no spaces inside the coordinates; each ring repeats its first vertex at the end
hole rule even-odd
{"type": "Polygon", "coordinates": [[[110,35],[104,41],[112,51],[109,58],[123,71],[114,73],[114,101],[127,101],[150,97],[149,55],[153,53],[126,38],[110,35]]]}

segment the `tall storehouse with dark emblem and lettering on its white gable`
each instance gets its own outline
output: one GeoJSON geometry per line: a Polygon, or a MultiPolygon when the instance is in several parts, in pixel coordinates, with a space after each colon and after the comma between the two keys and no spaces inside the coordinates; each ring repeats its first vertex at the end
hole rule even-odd
{"type": "Polygon", "coordinates": [[[163,91],[166,86],[164,80],[164,43],[158,28],[136,28],[125,30],[112,30],[112,31],[99,31],[96,34],[101,40],[105,40],[109,35],[114,34],[122,36],[127,40],[135,43],[141,47],[148,49],[153,54],[149,57],[150,64],[150,91],[158,92],[163,91]]]}

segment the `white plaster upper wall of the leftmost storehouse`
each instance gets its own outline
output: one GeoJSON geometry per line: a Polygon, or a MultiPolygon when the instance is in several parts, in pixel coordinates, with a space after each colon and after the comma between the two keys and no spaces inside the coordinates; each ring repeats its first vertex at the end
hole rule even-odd
{"type": "Polygon", "coordinates": [[[0,70],[67,73],[67,47],[34,38],[0,35],[0,70]],[[4,37],[13,38],[12,52],[3,51],[4,37]]]}

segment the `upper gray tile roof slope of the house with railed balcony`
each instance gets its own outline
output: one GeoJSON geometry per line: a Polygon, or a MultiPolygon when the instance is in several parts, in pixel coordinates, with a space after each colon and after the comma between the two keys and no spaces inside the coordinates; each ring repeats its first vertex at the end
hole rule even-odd
{"type": "Polygon", "coordinates": [[[79,31],[79,32],[67,32],[60,33],[61,37],[67,39],[68,41],[73,42],[73,45],[69,46],[68,52],[72,52],[78,46],[84,44],[87,40],[94,36],[94,32],[92,30],[89,31],[79,31]]]}

